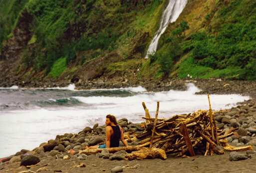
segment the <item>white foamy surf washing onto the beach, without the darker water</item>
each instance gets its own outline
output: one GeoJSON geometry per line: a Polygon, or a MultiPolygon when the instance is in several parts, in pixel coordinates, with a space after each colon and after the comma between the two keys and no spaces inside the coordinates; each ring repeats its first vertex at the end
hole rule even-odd
{"type": "MultiPolygon", "coordinates": [[[[176,114],[209,109],[207,95],[196,95],[195,93],[200,90],[194,84],[188,84],[187,91],[146,92],[142,87],[124,90],[137,94],[120,97],[78,96],[73,98],[85,103],[84,105],[73,107],[52,105],[45,108],[9,111],[7,109],[5,112],[0,112],[0,158],[15,154],[21,149],[32,150],[40,143],[55,139],[56,135],[78,133],[95,123],[103,125],[107,114],[115,115],[117,119],[127,118],[133,123],[143,122],[141,117],[145,116],[145,112],[142,102],[145,102],[150,115],[154,117],[156,103],[160,101],[159,118],[170,118],[176,114]]],[[[236,94],[210,95],[214,110],[231,108],[237,102],[249,99],[250,97],[236,94]]]]}

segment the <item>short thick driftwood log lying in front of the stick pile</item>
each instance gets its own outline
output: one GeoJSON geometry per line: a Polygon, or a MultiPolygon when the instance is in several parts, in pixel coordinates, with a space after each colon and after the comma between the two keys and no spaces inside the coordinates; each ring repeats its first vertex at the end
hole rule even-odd
{"type": "Polygon", "coordinates": [[[128,160],[143,160],[143,159],[167,159],[165,151],[162,149],[142,148],[137,152],[127,154],[125,156],[128,160]]]}

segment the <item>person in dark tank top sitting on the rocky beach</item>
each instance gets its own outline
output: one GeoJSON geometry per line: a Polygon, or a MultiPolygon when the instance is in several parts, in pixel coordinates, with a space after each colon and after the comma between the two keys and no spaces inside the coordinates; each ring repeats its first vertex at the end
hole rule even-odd
{"type": "Polygon", "coordinates": [[[113,115],[106,116],[106,144],[86,147],[87,150],[103,149],[119,147],[119,140],[128,147],[127,142],[124,140],[123,129],[117,125],[116,117],[113,115]]]}

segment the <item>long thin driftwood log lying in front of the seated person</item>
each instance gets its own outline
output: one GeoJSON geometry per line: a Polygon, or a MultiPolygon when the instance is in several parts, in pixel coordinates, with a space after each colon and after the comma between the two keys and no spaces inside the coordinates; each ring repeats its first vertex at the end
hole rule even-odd
{"type": "MultiPolygon", "coordinates": [[[[139,149],[141,149],[141,146],[134,146],[134,147],[114,147],[114,148],[106,148],[109,153],[115,153],[121,150],[126,151],[127,153],[131,153],[133,151],[137,151],[139,149]]],[[[81,150],[79,151],[79,155],[81,154],[86,154],[86,155],[96,155],[97,153],[102,152],[102,150],[104,149],[95,149],[95,150],[81,150]]]]}

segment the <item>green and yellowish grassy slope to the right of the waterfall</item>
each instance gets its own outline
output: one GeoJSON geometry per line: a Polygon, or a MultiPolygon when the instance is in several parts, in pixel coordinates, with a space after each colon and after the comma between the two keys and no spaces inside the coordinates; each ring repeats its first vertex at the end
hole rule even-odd
{"type": "Polygon", "coordinates": [[[168,51],[165,38],[188,21],[190,28],[179,38],[180,60],[170,76],[256,79],[255,11],[256,1],[251,0],[190,0],[162,36],[157,54],[168,51]]]}

